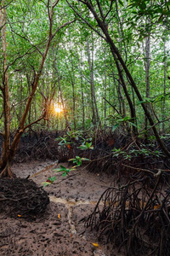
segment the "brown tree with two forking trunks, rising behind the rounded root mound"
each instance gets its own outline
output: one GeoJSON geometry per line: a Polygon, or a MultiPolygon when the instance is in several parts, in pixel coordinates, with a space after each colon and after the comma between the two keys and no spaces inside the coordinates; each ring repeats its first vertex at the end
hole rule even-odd
{"type": "MultiPolygon", "coordinates": [[[[3,40],[3,63],[4,63],[4,72],[3,72],[3,85],[0,85],[0,89],[3,92],[3,112],[4,112],[4,132],[3,132],[3,158],[0,162],[0,177],[13,177],[13,173],[11,172],[11,162],[14,159],[14,154],[16,152],[16,148],[18,147],[18,144],[20,142],[20,137],[23,134],[23,132],[26,130],[26,128],[30,127],[32,124],[26,125],[26,118],[29,113],[29,109],[31,108],[31,102],[35,96],[35,93],[37,91],[37,85],[40,79],[40,76],[42,74],[42,68],[44,66],[44,62],[46,60],[46,57],[48,55],[48,49],[50,46],[50,43],[57,32],[64,26],[67,26],[68,24],[71,24],[73,22],[69,21],[63,24],[62,26],[59,26],[53,33],[53,16],[54,16],[54,7],[58,3],[56,1],[54,4],[50,6],[50,1],[48,1],[48,23],[49,23],[49,31],[48,31],[48,41],[46,44],[46,48],[44,52],[42,53],[42,60],[40,62],[39,68],[37,73],[34,75],[34,80],[31,84],[31,94],[27,99],[26,102],[26,108],[22,114],[22,117],[20,119],[20,125],[18,130],[16,131],[14,135],[14,140],[10,145],[10,104],[9,104],[9,96],[8,96],[8,73],[7,73],[7,58],[6,58],[6,37],[5,37],[5,9],[0,9],[0,22],[3,26],[2,29],[2,40],[3,40]],[[3,22],[3,23],[2,23],[3,22]]],[[[3,4],[4,6],[4,4],[3,4]]],[[[40,118],[42,119],[42,117],[40,118]]],[[[39,120],[39,119],[38,119],[39,120]]],[[[38,121],[37,120],[37,121],[38,121]]],[[[35,121],[34,123],[36,123],[35,121]]]]}

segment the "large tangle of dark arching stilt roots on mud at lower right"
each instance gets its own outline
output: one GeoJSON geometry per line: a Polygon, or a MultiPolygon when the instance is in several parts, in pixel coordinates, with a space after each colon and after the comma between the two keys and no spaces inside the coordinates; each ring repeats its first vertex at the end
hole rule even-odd
{"type": "Polygon", "coordinates": [[[86,218],[99,240],[128,256],[170,255],[170,191],[163,190],[161,175],[153,189],[148,180],[106,189],[86,218]]]}

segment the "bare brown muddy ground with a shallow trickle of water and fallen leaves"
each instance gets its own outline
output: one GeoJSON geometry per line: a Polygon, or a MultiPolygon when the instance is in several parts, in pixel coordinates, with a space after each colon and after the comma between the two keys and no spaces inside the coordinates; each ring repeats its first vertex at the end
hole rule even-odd
{"type": "MultiPolygon", "coordinates": [[[[61,163],[59,165],[62,165],[61,163]]],[[[53,177],[52,160],[15,163],[13,171],[17,177],[30,175],[38,185],[53,177]]],[[[63,164],[66,165],[66,164],[63,164]]],[[[105,173],[92,173],[83,168],[62,177],[45,187],[50,203],[45,213],[35,219],[17,215],[9,218],[0,213],[0,255],[5,256],[114,256],[108,245],[99,244],[92,230],[85,230],[80,220],[87,217],[100,195],[115,184],[115,178],[105,173]]]]}

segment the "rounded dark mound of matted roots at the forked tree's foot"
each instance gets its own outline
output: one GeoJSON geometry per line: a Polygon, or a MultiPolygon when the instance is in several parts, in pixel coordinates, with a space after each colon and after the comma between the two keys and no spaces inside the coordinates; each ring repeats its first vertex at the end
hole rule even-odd
{"type": "Polygon", "coordinates": [[[32,180],[16,177],[0,179],[0,212],[11,217],[36,217],[45,212],[49,199],[47,192],[32,180]]]}

